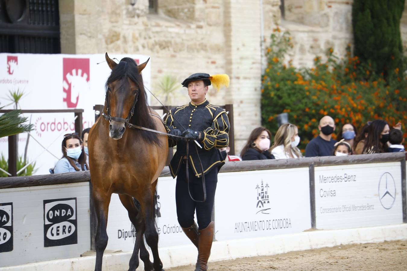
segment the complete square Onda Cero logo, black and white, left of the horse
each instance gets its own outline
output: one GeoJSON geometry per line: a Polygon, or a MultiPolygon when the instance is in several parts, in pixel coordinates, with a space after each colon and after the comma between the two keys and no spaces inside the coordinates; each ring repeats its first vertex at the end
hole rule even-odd
{"type": "Polygon", "coordinates": [[[44,200],[44,247],[78,243],[76,197],[44,200]]]}

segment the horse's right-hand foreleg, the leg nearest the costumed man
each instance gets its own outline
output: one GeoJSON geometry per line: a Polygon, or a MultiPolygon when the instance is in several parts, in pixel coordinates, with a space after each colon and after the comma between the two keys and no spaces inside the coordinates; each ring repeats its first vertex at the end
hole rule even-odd
{"type": "Polygon", "coordinates": [[[157,185],[157,180],[153,184],[151,184],[151,193],[146,193],[143,198],[143,212],[144,212],[144,220],[146,225],[146,232],[144,236],[146,236],[147,245],[151,248],[151,252],[154,258],[154,270],[161,271],[162,269],[162,262],[160,257],[158,256],[158,232],[155,229],[155,217],[153,214],[154,209],[154,193],[155,193],[155,186],[157,185]]]}

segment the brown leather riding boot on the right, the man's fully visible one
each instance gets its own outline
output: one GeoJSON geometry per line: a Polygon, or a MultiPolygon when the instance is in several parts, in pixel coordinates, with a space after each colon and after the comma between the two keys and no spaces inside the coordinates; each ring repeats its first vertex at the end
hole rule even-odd
{"type": "Polygon", "coordinates": [[[208,269],[208,258],[213,240],[213,225],[214,222],[212,221],[208,227],[199,230],[198,259],[195,265],[195,271],[206,271],[206,269],[208,269]]]}

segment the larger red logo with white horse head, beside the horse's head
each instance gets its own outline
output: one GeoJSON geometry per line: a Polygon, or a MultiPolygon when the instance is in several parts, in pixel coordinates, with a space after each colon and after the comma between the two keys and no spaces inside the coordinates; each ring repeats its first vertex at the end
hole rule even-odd
{"type": "Polygon", "coordinates": [[[68,108],[75,108],[79,101],[79,92],[89,90],[89,59],[63,59],[63,92],[68,108]]]}

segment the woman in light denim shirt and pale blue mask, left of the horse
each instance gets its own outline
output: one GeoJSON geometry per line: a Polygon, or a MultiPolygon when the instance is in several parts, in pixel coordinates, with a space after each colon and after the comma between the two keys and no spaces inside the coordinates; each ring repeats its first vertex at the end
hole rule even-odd
{"type": "Polygon", "coordinates": [[[86,154],[83,150],[82,140],[78,133],[70,133],[63,136],[62,158],[57,162],[54,173],[67,173],[88,170],[86,154]]]}

